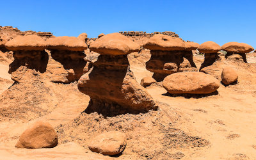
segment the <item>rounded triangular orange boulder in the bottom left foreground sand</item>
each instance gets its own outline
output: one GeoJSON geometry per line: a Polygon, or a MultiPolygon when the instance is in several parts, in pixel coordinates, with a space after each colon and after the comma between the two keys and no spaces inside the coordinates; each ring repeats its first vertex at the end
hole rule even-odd
{"type": "Polygon", "coordinates": [[[17,148],[52,148],[58,145],[58,135],[51,124],[36,122],[24,131],[15,145],[17,148]]]}

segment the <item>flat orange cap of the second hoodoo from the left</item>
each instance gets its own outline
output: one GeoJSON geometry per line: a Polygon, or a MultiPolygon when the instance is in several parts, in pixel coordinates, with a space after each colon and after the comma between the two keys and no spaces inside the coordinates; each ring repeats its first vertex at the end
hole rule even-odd
{"type": "Polygon", "coordinates": [[[49,49],[68,51],[84,51],[87,49],[87,44],[75,36],[57,36],[49,38],[46,42],[49,49]]]}

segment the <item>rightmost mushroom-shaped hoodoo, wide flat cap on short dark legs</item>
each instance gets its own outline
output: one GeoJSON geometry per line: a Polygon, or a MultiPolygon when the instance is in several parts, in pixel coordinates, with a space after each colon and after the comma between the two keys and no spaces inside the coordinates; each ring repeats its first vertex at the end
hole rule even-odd
{"type": "Polygon", "coordinates": [[[222,45],[221,49],[227,52],[225,58],[231,56],[230,59],[232,59],[233,54],[239,54],[244,62],[247,62],[245,54],[254,50],[251,45],[239,42],[228,42],[227,44],[222,45]]]}

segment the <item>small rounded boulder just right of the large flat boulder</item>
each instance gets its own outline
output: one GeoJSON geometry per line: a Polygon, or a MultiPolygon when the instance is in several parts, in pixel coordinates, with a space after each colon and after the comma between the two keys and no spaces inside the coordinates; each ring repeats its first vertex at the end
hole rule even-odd
{"type": "Polygon", "coordinates": [[[238,75],[237,75],[236,70],[234,70],[234,68],[232,68],[232,67],[223,68],[222,73],[221,73],[222,83],[228,85],[230,83],[236,82],[237,79],[238,79],[238,75]]]}

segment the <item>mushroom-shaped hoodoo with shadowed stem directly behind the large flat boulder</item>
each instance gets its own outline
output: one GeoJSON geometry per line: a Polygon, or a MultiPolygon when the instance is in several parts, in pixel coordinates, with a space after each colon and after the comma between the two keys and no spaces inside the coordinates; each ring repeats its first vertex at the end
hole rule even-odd
{"type": "Polygon", "coordinates": [[[185,44],[180,38],[159,34],[143,45],[145,49],[150,49],[151,58],[146,68],[154,72],[156,81],[163,81],[164,77],[175,72],[197,71],[192,52],[195,46],[189,44],[186,48],[185,44]]]}

